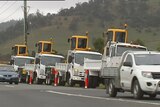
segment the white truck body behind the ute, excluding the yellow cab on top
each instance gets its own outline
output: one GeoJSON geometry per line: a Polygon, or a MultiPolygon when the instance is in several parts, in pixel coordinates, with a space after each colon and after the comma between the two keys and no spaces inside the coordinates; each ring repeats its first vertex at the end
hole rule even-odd
{"type": "MultiPolygon", "coordinates": [[[[104,47],[104,53],[101,60],[84,60],[84,69],[89,71],[89,78],[90,74],[96,74],[95,76],[97,76],[97,78],[100,78],[99,80],[104,81],[104,79],[109,77],[107,70],[119,67],[121,56],[127,50],[145,51],[147,49],[144,46],[133,45],[130,43],[108,42],[108,44],[106,44],[106,46],[104,47]]],[[[90,79],[88,81],[89,88],[96,87],[96,85],[94,85],[92,81],[93,80],[90,79]]]]}

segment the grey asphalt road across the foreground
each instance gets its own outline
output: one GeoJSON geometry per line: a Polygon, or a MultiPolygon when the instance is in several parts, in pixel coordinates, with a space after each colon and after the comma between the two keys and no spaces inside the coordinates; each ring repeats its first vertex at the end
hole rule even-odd
{"type": "Polygon", "coordinates": [[[160,96],[134,100],[130,93],[109,98],[104,89],[0,83],[0,107],[159,107],[160,96]]]}

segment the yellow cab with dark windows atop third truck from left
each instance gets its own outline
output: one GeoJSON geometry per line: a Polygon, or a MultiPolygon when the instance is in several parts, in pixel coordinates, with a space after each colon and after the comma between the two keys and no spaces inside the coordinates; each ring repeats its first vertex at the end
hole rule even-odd
{"type": "Polygon", "coordinates": [[[75,35],[68,39],[68,42],[71,44],[71,50],[88,50],[88,36],[75,35]]]}

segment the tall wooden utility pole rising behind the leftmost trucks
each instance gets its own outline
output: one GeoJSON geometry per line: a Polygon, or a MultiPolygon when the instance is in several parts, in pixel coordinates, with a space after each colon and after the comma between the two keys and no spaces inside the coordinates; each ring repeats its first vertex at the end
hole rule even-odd
{"type": "Polygon", "coordinates": [[[27,33],[28,22],[27,22],[27,0],[24,0],[24,44],[27,45],[27,33]]]}

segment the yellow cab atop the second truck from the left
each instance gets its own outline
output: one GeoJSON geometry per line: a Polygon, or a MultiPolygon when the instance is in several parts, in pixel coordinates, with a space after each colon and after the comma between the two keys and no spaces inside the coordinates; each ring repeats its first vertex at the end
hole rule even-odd
{"type": "Polygon", "coordinates": [[[52,42],[51,41],[39,41],[36,44],[38,47],[38,53],[52,53],[52,42]]]}

